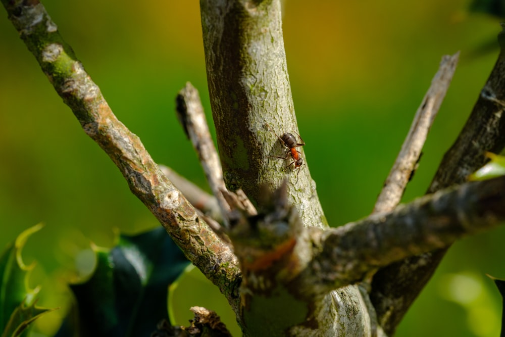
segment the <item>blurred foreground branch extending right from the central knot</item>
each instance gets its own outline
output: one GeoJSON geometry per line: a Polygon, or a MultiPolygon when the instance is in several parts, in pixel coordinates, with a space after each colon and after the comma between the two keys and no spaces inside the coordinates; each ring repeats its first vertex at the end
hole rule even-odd
{"type": "Polygon", "coordinates": [[[338,228],[313,232],[300,294],[321,296],[393,261],[451,245],[505,220],[505,176],[440,190],[338,228]]]}

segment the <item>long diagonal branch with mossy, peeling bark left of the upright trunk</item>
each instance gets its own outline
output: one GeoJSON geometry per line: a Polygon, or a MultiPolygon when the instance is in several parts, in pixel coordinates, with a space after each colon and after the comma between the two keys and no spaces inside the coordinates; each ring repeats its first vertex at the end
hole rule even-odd
{"type": "Polygon", "coordinates": [[[111,158],[135,196],[238,311],[240,270],[228,246],[161,172],[140,139],[112,113],[98,86],[38,0],[2,0],[28,49],[82,128],[111,158]]]}

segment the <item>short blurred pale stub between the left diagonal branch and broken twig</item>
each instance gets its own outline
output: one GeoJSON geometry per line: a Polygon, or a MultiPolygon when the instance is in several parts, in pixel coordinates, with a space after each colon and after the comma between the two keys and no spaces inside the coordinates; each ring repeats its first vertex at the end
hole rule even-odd
{"type": "Polygon", "coordinates": [[[191,181],[177,174],[177,172],[170,167],[165,165],[159,166],[163,174],[165,174],[168,180],[170,180],[174,186],[182,192],[191,205],[218,223],[223,222],[223,214],[221,213],[216,197],[208,194],[191,181]]]}

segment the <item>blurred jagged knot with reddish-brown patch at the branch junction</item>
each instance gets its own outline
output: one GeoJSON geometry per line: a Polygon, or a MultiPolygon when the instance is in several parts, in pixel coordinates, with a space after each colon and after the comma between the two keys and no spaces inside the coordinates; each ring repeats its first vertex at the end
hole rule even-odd
{"type": "Polygon", "coordinates": [[[263,187],[259,211],[248,200],[244,202],[240,190],[236,195],[223,191],[223,195],[231,208],[227,234],[241,265],[243,286],[266,290],[268,284],[298,274],[295,247],[304,236],[304,227],[296,209],[287,202],[286,181],[273,192],[263,187]],[[258,281],[260,275],[262,282],[258,281]]]}

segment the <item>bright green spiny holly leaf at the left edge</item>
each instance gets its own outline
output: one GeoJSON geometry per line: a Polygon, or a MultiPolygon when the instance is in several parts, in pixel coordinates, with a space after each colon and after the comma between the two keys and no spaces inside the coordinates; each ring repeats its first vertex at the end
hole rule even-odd
{"type": "MultiPolygon", "coordinates": [[[[35,266],[27,266],[21,251],[28,237],[43,227],[38,224],[23,231],[14,244],[7,246],[0,256],[0,331],[2,337],[19,336],[42,314],[53,311],[35,306],[40,288],[28,286],[28,276],[35,266]]],[[[26,333],[23,333],[25,335],[26,333]]]]}

